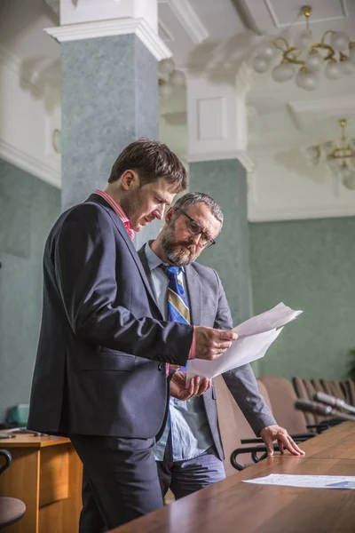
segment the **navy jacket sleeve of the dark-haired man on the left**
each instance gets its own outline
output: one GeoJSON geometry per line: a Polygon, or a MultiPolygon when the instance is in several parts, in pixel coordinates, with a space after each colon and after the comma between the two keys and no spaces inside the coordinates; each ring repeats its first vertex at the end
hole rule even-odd
{"type": "Polygon", "coordinates": [[[52,260],[67,321],[75,335],[146,359],[185,364],[193,327],[153,318],[136,319],[115,302],[120,259],[112,223],[90,203],[67,215],[52,243],[52,260]]]}

